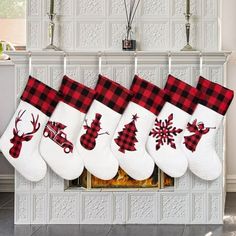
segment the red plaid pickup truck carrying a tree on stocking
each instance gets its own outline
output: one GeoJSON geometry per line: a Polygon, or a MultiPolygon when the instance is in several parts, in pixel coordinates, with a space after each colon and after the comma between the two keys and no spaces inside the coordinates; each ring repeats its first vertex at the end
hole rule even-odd
{"type": "Polygon", "coordinates": [[[43,136],[50,138],[57,145],[64,149],[65,153],[73,152],[73,144],[67,140],[67,135],[62,130],[66,128],[66,125],[63,125],[59,122],[48,121],[44,131],[43,136]]]}

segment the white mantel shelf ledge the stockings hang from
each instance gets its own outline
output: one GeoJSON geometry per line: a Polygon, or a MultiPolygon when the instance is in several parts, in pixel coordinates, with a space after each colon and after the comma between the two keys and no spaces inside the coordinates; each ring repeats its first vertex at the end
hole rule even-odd
{"type": "MultiPolygon", "coordinates": [[[[140,64],[166,64],[168,61],[168,51],[78,51],[78,52],[63,52],[63,51],[31,51],[32,61],[34,64],[61,64],[63,56],[66,53],[68,64],[96,64],[99,53],[102,55],[104,64],[132,64],[135,53],[140,64]]],[[[15,64],[26,64],[29,57],[28,51],[9,52],[11,60],[15,64]]],[[[229,51],[202,52],[203,62],[205,64],[224,64],[229,51]]],[[[172,61],[174,64],[197,64],[199,63],[199,51],[171,52],[172,61]]]]}

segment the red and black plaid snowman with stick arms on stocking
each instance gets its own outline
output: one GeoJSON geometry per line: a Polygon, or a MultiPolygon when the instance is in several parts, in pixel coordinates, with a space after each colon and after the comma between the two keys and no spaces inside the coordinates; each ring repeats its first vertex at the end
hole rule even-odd
{"type": "Polygon", "coordinates": [[[100,133],[101,128],[101,120],[102,115],[99,113],[95,114],[95,119],[92,121],[89,126],[87,120],[85,120],[86,125],[83,128],[86,130],[86,133],[80,137],[80,144],[87,150],[93,150],[96,146],[96,139],[99,135],[107,134],[108,132],[100,133]]]}

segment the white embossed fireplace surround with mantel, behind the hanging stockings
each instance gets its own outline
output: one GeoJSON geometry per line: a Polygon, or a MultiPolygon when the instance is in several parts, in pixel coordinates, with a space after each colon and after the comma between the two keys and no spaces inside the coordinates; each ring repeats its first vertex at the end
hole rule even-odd
{"type": "MultiPolygon", "coordinates": [[[[15,64],[16,102],[28,77],[28,52],[9,53],[15,64]]],[[[32,54],[32,75],[55,89],[63,76],[64,52],[32,54]]],[[[225,83],[229,52],[203,53],[203,76],[225,83]]],[[[67,74],[94,87],[98,52],[67,52],[67,74]]],[[[168,52],[137,52],[138,74],[163,87],[168,74],[168,52]]],[[[172,74],[192,85],[199,76],[199,52],[171,52],[172,74]]],[[[102,73],[129,87],[134,53],[102,52],[102,73]]],[[[215,148],[224,165],[224,125],[215,148]]],[[[223,168],[224,169],[224,168],[223,168]]],[[[203,181],[188,171],[175,180],[172,190],[92,191],[65,190],[65,181],[50,169],[46,177],[31,183],[15,176],[16,224],[221,224],[224,211],[224,173],[215,181],[203,181]]]]}

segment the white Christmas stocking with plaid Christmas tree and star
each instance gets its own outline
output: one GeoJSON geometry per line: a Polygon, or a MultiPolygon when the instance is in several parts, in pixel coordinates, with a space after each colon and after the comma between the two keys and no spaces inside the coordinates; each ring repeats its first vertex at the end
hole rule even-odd
{"type": "Polygon", "coordinates": [[[144,180],[154,170],[154,162],[145,150],[145,143],[155,115],[164,104],[164,93],[138,76],[134,77],[131,91],[134,97],[116,128],[111,148],[121,168],[130,177],[144,180]]]}

